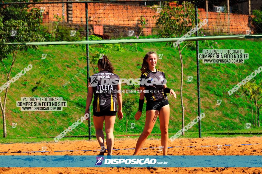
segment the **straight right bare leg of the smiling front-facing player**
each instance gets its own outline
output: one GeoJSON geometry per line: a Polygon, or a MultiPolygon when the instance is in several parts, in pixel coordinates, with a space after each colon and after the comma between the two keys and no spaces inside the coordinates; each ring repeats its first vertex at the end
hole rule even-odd
{"type": "Polygon", "coordinates": [[[163,155],[167,155],[169,113],[170,113],[169,105],[160,108],[159,121],[160,121],[160,130],[161,130],[161,146],[163,146],[163,155]]]}

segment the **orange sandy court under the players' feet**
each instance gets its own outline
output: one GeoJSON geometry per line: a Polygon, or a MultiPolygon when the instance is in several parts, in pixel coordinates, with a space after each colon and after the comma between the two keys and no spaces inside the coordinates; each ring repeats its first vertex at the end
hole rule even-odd
{"type": "MultiPolygon", "coordinates": [[[[137,139],[115,138],[113,155],[132,155],[134,150],[122,150],[134,148],[137,139]]],[[[161,146],[159,139],[148,139],[144,148],[161,146]]],[[[237,138],[178,138],[169,146],[169,155],[262,155],[261,137],[237,137],[237,138]],[[260,144],[261,143],[261,144],[260,144]],[[242,144],[242,145],[241,145],[242,144]],[[251,145],[243,145],[251,144],[251,145]],[[221,150],[218,146],[223,145],[221,150]],[[231,146],[224,146],[231,145],[231,146]],[[195,146],[195,147],[187,147],[195,146]],[[204,146],[204,147],[201,147],[204,146]]],[[[14,143],[0,144],[0,155],[97,155],[99,151],[81,151],[100,149],[97,141],[61,141],[58,143],[14,143]],[[13,151],[41,151],[43,153],[10,153],[13,151]],[[75,150],[73,152],[54,152],[63,150],[75,150]]],[[[159,149],[142,149],[139,155],[162,155],[159,149]]],[[[0,173],[262,173],[262,168],[0,168],[0,173]]]]}

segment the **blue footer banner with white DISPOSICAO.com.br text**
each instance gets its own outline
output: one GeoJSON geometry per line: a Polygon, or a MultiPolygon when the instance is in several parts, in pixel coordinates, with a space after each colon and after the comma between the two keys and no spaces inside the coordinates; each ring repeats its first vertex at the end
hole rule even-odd
{"type": "Polygon", "coordinates": [[[262,167],[262,156],[1,155],[0,167],[262,167]]]}

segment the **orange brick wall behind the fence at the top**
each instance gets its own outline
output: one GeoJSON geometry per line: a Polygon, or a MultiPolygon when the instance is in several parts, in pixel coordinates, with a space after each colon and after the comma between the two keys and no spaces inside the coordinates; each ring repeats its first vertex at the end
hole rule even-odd
{"type": "MultiPolygon", "coordinates": [[[[70,26],[85,25],[85,4],[73,3],[73,21],[70,26]]],[[[66,21],[66,4],[37,4],[37,8],[45,7],[44,23],[55,21],[54,15],[60,17],[64,15],[66,21]]],[[[202,21],[207,17],[204,9],[199,9],[199,18],[202,21]]],[[[127,36],[129,30],[134,30],[135,35],[140,33],[140,18],[144,16],[146,19],[146,28],[143,29],[143,34],[152,34],[152,29],[156,28],[156,18],[154,15],[156,9],[146,6],[128,5],[128,4],[111,4],[111,3],[88,3],[88,17],[90,34],[93,34],[94,28],[100,28],[101,31],[109,36],[127,36]],[[104,8],[104,10],[102,10],[104,8]],[[102,25],[102,28],[101,28],[102,25]]],[[[229,33],[230,34],[245,34],[248,27],[248,15],[230,14],[228,23],[228,15],[224,13],[208,12],[208,24],[203,26],[205,33],[229,33]]]]}

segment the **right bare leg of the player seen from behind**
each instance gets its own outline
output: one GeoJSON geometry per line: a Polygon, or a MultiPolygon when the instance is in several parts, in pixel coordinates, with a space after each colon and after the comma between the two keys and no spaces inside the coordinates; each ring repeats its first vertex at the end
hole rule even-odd
{"type": "Polygon", "coordinates": [[[106,133],[106,144],[107,144],[107,155],[112,155],[114,146],[114,124],[116,116],[105,116],[105,133],[106,133]]]}

